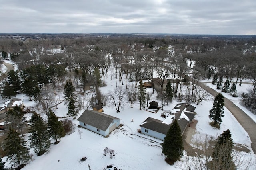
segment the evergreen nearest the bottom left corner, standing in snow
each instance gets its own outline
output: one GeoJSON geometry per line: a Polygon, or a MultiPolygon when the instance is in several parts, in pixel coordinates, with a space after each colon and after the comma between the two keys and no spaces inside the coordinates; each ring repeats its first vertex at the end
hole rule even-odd
{"type": "Polygon", "coordinates": [[[18,165],[20,168],[22,164],[27,164],[30,161],[31,156],[27,145],[27,142],[20,137],[15,129],[9,128],[4,151],[7,154],[7,160],[10,160],[13,166],[18,165]]]}

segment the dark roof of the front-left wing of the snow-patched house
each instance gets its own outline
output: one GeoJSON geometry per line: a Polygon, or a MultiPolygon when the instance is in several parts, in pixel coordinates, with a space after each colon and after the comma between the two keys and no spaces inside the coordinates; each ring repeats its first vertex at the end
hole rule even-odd
{"type": "Polygon", "coordinates": [[[163,123],[158,119],[154,119],[152,117],[148,117],[140,127],[144,127],[146,129],[150,129],[152,131],[156,131],[162,134],[167,134],[168,130],[170,129],[170,125],[163,123]]]}

